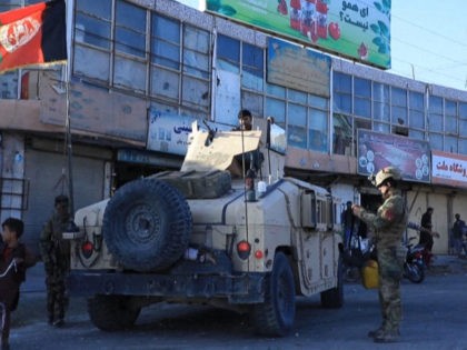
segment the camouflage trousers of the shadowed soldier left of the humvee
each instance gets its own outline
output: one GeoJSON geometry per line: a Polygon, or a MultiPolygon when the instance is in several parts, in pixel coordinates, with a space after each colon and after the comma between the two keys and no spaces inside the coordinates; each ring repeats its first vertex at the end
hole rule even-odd
{"type": "Polygon", "coordinates": [[[47,286],[47,313],[49,322],[62,320],[68,307],[66,278],[68,270],[54,267],[49,269],[46,278],[47,286]]]}

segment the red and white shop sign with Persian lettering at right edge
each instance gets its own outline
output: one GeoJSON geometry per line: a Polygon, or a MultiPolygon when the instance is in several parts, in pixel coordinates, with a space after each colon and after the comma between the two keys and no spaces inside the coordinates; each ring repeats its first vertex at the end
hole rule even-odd
{"type": "Polygon", "coordinates": [[[431,151],[431,182],[467,188],[467,157],[431,151]]]}

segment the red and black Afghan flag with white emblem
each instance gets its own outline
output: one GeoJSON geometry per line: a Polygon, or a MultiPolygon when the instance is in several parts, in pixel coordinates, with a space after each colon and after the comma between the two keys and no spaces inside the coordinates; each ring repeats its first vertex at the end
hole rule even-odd
{"type": "Polygon", "coordinates": [[[0,72],[66,60],[64,0],[0,13],[0,72]]]}

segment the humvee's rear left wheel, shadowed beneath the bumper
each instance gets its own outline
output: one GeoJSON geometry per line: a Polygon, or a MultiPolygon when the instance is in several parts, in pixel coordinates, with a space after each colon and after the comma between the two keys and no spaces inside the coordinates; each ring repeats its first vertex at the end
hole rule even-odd
{"type": "Polygon", "coordinates": [[[88,313],[92,323],[103,331],[131,328],[141,311],[131,304],[131,297],[98,294],[88,300],[88,313]]]}

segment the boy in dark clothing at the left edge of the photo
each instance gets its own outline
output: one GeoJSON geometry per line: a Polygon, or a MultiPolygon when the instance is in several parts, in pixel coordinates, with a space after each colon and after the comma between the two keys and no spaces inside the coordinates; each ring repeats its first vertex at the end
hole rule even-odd
{"type": "Polygon", "coordinates": [[[19,300],[21,282],[26,279],[26,247],[19,242],[24,224],[21,220],[9,218],[1,224],[0,243],[0,319],[1,350],[10,349],[10,316],[19,300]]]}

